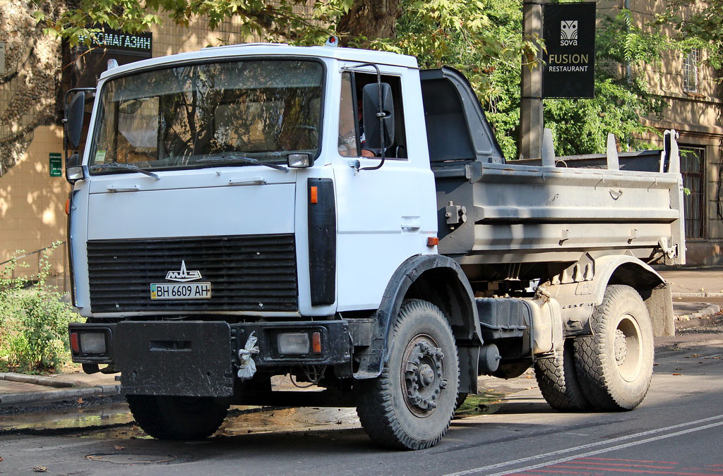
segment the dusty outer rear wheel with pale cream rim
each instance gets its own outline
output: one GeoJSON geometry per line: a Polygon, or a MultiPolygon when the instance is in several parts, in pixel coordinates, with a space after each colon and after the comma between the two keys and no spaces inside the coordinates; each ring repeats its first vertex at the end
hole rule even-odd
{"type": "Polygon", "coordinates": [[[575,339],[578,379],[600,410],[633,410],[653,377],[653,327],[630,286],[609,285],[591,317],[593,335],[575,339]]]}

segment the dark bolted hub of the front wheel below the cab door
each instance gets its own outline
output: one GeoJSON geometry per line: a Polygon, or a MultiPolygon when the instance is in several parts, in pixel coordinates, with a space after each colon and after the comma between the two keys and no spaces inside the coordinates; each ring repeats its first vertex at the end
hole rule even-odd
{"type": "Polygon", "coordinates": [[[447,386],[444,378],[442,349],[427,339],[410,342],[406,351],[405,399],[412,412],[427,416],[437,408],[437,399],[447,386]]]}

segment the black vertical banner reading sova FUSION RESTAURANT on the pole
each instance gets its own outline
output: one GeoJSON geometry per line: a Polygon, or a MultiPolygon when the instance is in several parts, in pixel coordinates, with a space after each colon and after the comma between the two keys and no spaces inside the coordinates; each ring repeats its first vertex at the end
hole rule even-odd
{"type": "Polygon", "coordinates": [[[542,7],[542,98],[594,98],[595,2],[542,7]]]}

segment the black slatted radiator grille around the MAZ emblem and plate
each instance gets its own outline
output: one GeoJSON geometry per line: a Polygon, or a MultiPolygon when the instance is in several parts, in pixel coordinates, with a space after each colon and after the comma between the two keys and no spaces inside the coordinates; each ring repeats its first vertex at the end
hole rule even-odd
{"type": "Polygon", "coordinates": [[[297,311],[294,235],[87,242],[90,307],[124,311],[297,311]],[[199,271],[211,299],[151,300],[168,271],[199,271]]]}

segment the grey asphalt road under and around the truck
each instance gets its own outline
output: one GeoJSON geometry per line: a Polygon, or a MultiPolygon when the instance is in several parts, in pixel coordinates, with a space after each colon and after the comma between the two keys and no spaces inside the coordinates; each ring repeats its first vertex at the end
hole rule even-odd
{"type": "MultiPolygon", "coordinates": [[[[509,384],[519,389],[534,380],[509,384]]],[[[660,339],[651,390],[633,412],[555,412],[536,388],[528,389],[511,394],[492,415],[455,420],[437,446],[423,451],[377,449],[351,409],[237,411],[220,435],[186,443],[146,437],[125,424],[124,411],[116,405],[70,425],[95,419],[108,428],[1,435],[0,472],[723,475],[723,325],[660,339]]]]}

